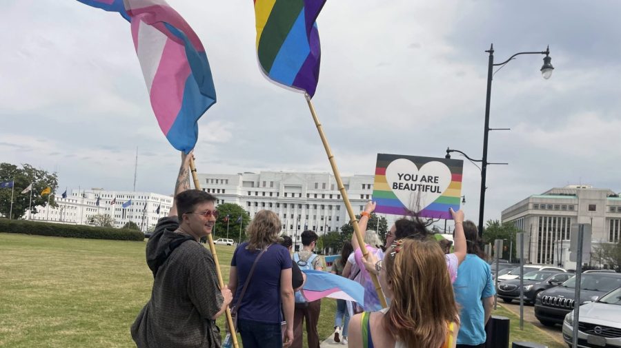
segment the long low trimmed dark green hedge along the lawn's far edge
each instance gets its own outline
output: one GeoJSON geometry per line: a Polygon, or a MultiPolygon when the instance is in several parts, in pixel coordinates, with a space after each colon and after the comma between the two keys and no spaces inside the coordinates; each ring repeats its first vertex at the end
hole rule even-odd
{"type": "Polygon", "coordinates": [[[0,232],[67,238],[144,240],[144,234],[135,229],[65,225],[39,221],[8,220],[6,218],[0,219],[0,232]]]}

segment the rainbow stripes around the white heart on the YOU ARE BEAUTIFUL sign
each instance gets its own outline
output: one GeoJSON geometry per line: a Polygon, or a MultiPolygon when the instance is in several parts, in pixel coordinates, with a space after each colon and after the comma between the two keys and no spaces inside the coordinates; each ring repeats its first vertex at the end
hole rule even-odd
{"type": "Polygon", "coordinates": [[[403,205],[386,181],[386,167],[399,158],[412,161],[417,168],[432,161],[444,163],[449,167],[449,170],[451,170],[451,184],[449,184],[449,187],[442,193],[442,196],[438,197],[427,207],[423,207],[424,209],[418,212],[417,215],[423,218],[443,218],[450,220],[451,213],[449,213],[449,208],[453,208],[455,212],[460,209],[460,200],[462,198],[462,173],[464,170],[464,161],[451,158],[377,154],[375,183],[373,184],[373,201],[377,203],[375,212],[402,216],[412,215],[411,209],[403,205]]]}

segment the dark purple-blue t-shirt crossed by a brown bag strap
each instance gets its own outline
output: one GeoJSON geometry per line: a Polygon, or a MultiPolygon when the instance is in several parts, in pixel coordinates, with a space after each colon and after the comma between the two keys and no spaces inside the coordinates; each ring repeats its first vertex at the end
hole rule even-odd
{"type": "MultiPolygon", "coordinates": [[[[230,261],[231,266],[237,267],[237,289],[231,306],[237,303],[250,268],[261,252],[259,249],[248,250],[247,245],[248,243],[239,245],[230,261]]],[[[239,304],[237,317],[267,324],[281,323],[280,272],[288,268],[291,268],[291,256],[287,248],[277,244],[271,245],[255,267],[246,294],[239,304]]]]}

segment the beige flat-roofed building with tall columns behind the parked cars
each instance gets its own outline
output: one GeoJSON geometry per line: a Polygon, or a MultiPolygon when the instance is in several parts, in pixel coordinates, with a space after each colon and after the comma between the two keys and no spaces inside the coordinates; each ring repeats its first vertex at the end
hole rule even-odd
{"type": "Polygon", "coordinates": [[[557,187],[526,198],[502,211],[503,222],[529,234],[524,254],[531,263],[562,265],[575,269],[569,261],[571,225],[591,225],[591,243],[618,243],[621,240],[621,198],[608,189],[591,185],[557,187]]]}

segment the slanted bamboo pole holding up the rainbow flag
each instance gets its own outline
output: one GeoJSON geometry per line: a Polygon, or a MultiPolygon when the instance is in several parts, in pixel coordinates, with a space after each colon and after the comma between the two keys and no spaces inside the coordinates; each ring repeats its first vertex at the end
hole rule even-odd
{"type": "MultiPolygon", "coordinates": [[[[349,214],[349,218],[351,224],[354,228],[354,233],[356,235],[356,239],[358,240],[358,245],[360,246],[360,251],[362,255],[366,259],[368,256],[368,252],[366,251],[366,247],[364,246],[364,240],[362,240],[362,234],[360,234],[360,228],[358,227],[358,220],[351,208],[351,203],[349,203],[349,198],[347,196],[347,192],[343,185],[343,181],[341,180],[341,174],[339,174],[339,169],[337,168],[336,161],[334,160],[334,155],[330,150],[330,145],[328,144],[328,139],[326,139],[326,135],[324,134],[324,129],[322,128],[322,124],[319,123],[319,119],[317,118],[317,114],[315,113],[315,107],[313,106],[313,102],[311,101],[311,96],[308,93],[304,93],[306,97],[306,102],[308,103],[308,108],[311,109],[311,114],[313,115],[313,121],[315,121],[315,125],[317,126],[317,132],[319,132],[319,137],[322,139],[322,143],[324,143],[324,147],[326,149],[326,154],[328,155],[328,160],[330,161],[330,165],[332,166],[332,171],[334,172],[334,178],[337,181],[337,185],[339,187],[339,192],[341,192],[341,196],[343,197],[343,201],[345,203],[345,207],[347,209],[347,213],[349,214]]],[[[377,280],[377,276],[373,272],[369,272],[371,276],[371,280],[373,280],[373,285],[375,285],[375,291],[377,291],[377,297],[380,298],[380,304],[382,307],[388,307],[386,305],[386,298],[384,298],[384,293],[382,292],[382,287],[380,286],[380,281],[377,280]]]]}

